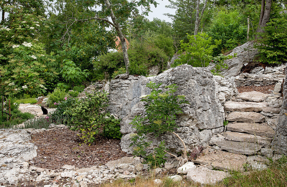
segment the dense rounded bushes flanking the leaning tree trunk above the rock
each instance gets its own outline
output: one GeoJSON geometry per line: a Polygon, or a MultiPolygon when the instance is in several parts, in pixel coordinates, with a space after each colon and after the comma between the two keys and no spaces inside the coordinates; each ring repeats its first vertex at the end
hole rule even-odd
{"type": "MultiPolygon", "coordinates": [[[[130,61],[130,73],[133,75],[147,75],[148,68],[157,65],[165,68],[170,56],[174,54],[172,40],[170,38],[155,35],[154,32],[146,32],[141,41],[131,40],[128,50],[130,61]]],[[[123,52],[111,52],[98,56],[94,60],[94,67],[98,72],[98,77],[107,74],[110,78],[122,72],[125,67],[123,52]],[[115,72],[115,73],[114,73],[115,72]]],[[[97,77],[97,76],[96,76],[97,77]]]]}

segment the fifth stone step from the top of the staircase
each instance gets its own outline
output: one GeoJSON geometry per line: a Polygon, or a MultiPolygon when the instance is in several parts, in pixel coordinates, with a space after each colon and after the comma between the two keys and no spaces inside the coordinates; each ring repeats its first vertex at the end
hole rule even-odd
{"type": "Polygon", "coordinates": [[[273,140],[273,138],[270,137],[261,137],[258,135],[238,133],[232,131],[226,131],[222,135],[225,137],[226,140],[258,143],[260,145],[263,145],[264,147],[270,147],[273,140]]]}

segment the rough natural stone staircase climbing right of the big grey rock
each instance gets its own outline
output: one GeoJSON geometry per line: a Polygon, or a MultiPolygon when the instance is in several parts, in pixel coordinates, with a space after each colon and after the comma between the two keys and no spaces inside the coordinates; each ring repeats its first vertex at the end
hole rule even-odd
{"type": "Polygon", "coordinates": [[[265,168],[267,157],[273,156],[271,142],[281,102],[280,95],[256,91],[239,93],[232,101],[225,102],[229,123],[224,132],[211,138],[212,147],[193,162],[224,171],[244,170],[246,166],[265,168]]]}

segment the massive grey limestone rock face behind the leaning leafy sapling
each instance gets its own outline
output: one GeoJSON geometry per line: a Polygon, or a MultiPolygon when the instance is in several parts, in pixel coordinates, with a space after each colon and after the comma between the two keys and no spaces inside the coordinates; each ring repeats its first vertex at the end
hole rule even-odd
{"type": "MultiPolygon", "coordinates": [[[[109,111],[121,120],[121,139],[123,151],[129,152],[129,137],[135,129],[129,124],[134,116],[144,113],[144,103],[140,101],[142,95],[148,95],[150,88],[148,82],[162,83],[165,86],[177,84],[176,94],[185,95],[190,105],[183,105],[183,114],[178,115],[177,133],[183,138],[187,147],[192,149],[195,145],[208,145],[213,134],[224,130],[224,109],[221,101],[231,98],[237,93],[234,82],[230,78],[215,77],[207,68],[193,68],[183,64],[176,68],[164,71],[158,76],[127,76],[121,74],[110,81],[109,111]],[[231,83],[230,83],[231,82],[231,83]],[[221,101],[218,99],[220,96],[221,101]]],[[[164,140],[175,152],[181,151],[181,142],[173,134],[165,134],[157,139],[152,139],[154,144],[164,140]]]]}

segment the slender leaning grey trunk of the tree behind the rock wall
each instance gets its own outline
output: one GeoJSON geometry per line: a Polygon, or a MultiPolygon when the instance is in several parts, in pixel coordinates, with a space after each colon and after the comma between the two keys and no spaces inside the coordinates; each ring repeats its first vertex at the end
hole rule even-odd
{"type": "Polygon", "coordinates": [[[110,17],[112,18],[112,21],[115,25],[115,29],[117,31],[117,34],[121,40],[121,44],[122,44],[122,49],[123,49],[123,56],[124,56],[124,62],[125,62],[125,66],[126,66],[126,73],[129,74],[129,56],[127,54],[127,43],[125,42],[125,36],[123,35],[121,28],[119,26],[119,23],[116,20],[115,14],[113,9],[110,6],[110,2],[109,0],[105,0],[106,6],[107,8],[110,10],[110,17]]]}

